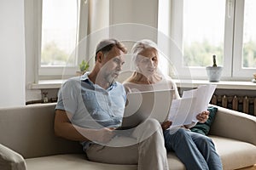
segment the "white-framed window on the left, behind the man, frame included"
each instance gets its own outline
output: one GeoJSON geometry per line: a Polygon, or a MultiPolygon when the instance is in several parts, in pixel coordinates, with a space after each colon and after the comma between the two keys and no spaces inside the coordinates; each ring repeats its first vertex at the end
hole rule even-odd
{"type": "Polygon", "coordinates": [[[79,42],[87,35],[88,3],[84,0],[33,1],[38,80],[72,77],[78,70],[79,42]]]}

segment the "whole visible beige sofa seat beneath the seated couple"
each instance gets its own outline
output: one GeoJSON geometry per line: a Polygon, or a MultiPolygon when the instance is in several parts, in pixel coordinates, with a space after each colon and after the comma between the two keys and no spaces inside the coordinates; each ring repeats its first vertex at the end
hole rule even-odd
{"type": "MultiPolygon", "coordinates": [[[[221,157],[224,169],[238,169],[249,167],[256,162],[256,146],[235,139],[226,139],[218,136],[210,136],[221,157]]],[[[185,167],[173,152],[168,153],[170,170],[185,170],[185,167]]],[[[44,156],[26,159],[27,170],[136,170],[136,165],[113,165],[94,161],[87,161],[84,154],[67,154],[56,156],[44,156]]]]}

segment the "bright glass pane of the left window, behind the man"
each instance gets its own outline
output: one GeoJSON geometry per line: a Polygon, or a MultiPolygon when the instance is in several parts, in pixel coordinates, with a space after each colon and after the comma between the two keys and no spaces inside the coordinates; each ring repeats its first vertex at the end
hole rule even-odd
{"type": "Polygon", "coordinates": [[[41,66],[74,65],[69,59],[77,42],[77,1],[44,0],[41,66]]]}

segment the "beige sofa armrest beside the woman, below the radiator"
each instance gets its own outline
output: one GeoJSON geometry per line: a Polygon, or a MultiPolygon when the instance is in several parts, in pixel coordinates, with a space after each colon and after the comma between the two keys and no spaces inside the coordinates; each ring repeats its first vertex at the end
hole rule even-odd
{"type": "Polygon", "coordinates": [[[218,107],[210,134],[256,145],[256,116],[218,107]]]}

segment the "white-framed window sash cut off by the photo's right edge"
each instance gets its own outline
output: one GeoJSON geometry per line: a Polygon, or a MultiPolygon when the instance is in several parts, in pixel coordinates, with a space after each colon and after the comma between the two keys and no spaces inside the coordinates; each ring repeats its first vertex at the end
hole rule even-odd
{"type": "Polygon", "coordinates": [[[251,76],[256,72],[256,2],[244,0],[236,2],[236,27],[234,37],[234,75],[251,76]]]}

